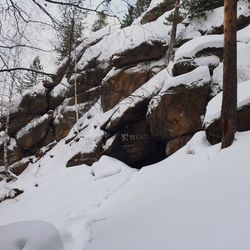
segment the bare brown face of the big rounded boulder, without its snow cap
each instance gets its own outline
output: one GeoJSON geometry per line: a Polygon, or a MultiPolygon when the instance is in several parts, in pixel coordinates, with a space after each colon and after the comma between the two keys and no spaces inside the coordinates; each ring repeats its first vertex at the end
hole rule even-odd
{"type": "Polygon", "coordinates": [[[169,141],[201,130],[208,96],[209,84],[180,85],[167,90],[147,116],[152,136],[159,141],[169,141]]]}

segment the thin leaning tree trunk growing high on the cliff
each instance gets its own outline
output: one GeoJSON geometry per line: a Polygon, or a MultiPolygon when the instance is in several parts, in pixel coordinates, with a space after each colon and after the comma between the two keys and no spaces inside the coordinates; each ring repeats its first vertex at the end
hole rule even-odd
{"type": "Polygon", "coordinates": [[[174,46],[176,44],[176,33],[177,33],[179,9],[180,9],[180,0],[176,0],[175,10],[174,10],[174,20],[172,24],[171,36],[170,36],[170,41],[169,41],[167,55],[166,55],[166,64],[168,64],[170,60],[172,59],[174,46]]]}

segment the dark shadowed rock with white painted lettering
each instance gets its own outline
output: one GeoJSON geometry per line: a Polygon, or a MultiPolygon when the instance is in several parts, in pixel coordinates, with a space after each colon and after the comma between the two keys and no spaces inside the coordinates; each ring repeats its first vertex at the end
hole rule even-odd
{"type": "Polygon", "coordinates": [[[131,167],[143,166],[165,158],[165,144],[156,142],[145,120],[129,124],[107,141],[106,155],[117,158],[131,167]]]}

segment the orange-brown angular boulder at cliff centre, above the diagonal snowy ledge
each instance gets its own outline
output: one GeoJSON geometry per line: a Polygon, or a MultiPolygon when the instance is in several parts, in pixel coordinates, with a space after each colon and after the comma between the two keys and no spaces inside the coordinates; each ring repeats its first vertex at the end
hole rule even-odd
{"type": "Polygon", "coordinates": [[[102,83],[101,105],[103,111],[113,108],[128,97],[147,82],[151,75],[151,70],[145,64],[118,70],[118,72],[112,71],[111,76],[105,78],[102,83]]]}

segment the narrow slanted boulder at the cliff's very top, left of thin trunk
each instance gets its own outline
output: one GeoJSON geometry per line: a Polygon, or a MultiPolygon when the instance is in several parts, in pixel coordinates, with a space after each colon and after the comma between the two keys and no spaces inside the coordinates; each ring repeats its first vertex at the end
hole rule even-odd
{"type": "Polygon", "coordinates": [[[143,15],[141,19],[141,24],[155,21],[165,12],[172,10],[175,7],[175,2],[175,0],[164,0],[156,6],[149,8],[149,10],[143,15]]]}

